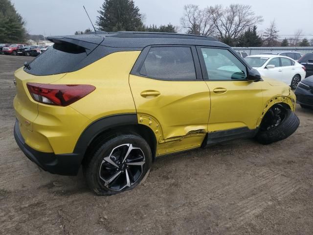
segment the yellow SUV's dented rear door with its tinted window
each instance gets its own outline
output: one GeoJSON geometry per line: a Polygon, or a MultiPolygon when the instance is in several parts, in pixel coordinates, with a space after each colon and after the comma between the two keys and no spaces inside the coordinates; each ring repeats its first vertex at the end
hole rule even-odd
{"type": "Polygon", "coordinates": [[[207,132],[210,94],[195,54],[189,46],[146,47],[130,75],[137,113],[155,118],[164,140],[207,132]]]}

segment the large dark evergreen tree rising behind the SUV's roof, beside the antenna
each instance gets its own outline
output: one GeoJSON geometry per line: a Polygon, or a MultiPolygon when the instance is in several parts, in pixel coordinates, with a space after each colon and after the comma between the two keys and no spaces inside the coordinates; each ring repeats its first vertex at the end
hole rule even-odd
{"type": "Polygon", "coordinates": [[[103,31],[138,31],[143,26],[134,0],[104,0],[98,13],[96,24],[103,31]]]}

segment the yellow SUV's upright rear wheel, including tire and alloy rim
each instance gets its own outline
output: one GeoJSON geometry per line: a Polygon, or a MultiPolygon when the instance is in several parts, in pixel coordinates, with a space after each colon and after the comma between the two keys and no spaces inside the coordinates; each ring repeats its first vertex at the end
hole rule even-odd
{"type": "Polygon", "coordinates": [[[121,133],[100,141],[83,164],[89,188],[97,195],[113,195],[135,188],[152,164],[149,144],[135,134],[121,133]]]}

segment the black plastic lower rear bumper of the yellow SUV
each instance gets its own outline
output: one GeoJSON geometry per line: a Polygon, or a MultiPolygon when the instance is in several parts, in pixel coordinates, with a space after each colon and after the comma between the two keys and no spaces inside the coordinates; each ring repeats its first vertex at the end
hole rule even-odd
{"type": "Polygon", "coordinates": [[[43,170],[52,174],[77,175],[82,162],[80,154],[44,153],[31,148],[22,137],[18,120],[16,120],[14,125],[14,138],[26,157],[43,170]]]}

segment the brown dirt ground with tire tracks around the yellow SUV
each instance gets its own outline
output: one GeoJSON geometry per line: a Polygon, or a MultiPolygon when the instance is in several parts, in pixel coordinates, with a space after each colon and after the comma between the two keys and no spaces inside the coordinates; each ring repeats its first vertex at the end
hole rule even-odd
{"type": "Polygon", "coordinates": [[[97,197],[82,172],[52,175],[14,141],[13,71],[0,55],[0,234],[313,234],[313,110],[285,141],[232,141],[160,157],[145,183],[97,197]]]}

